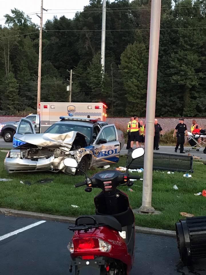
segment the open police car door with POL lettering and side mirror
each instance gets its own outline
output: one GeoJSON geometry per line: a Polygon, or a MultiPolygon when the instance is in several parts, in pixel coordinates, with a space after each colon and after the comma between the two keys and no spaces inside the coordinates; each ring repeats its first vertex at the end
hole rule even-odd
{"type": "Polygon", "coordinates": [[[102,127],[93,145],[95,166],[99,167],[119,161],[120,143],[114,124],[102,127]]]}

